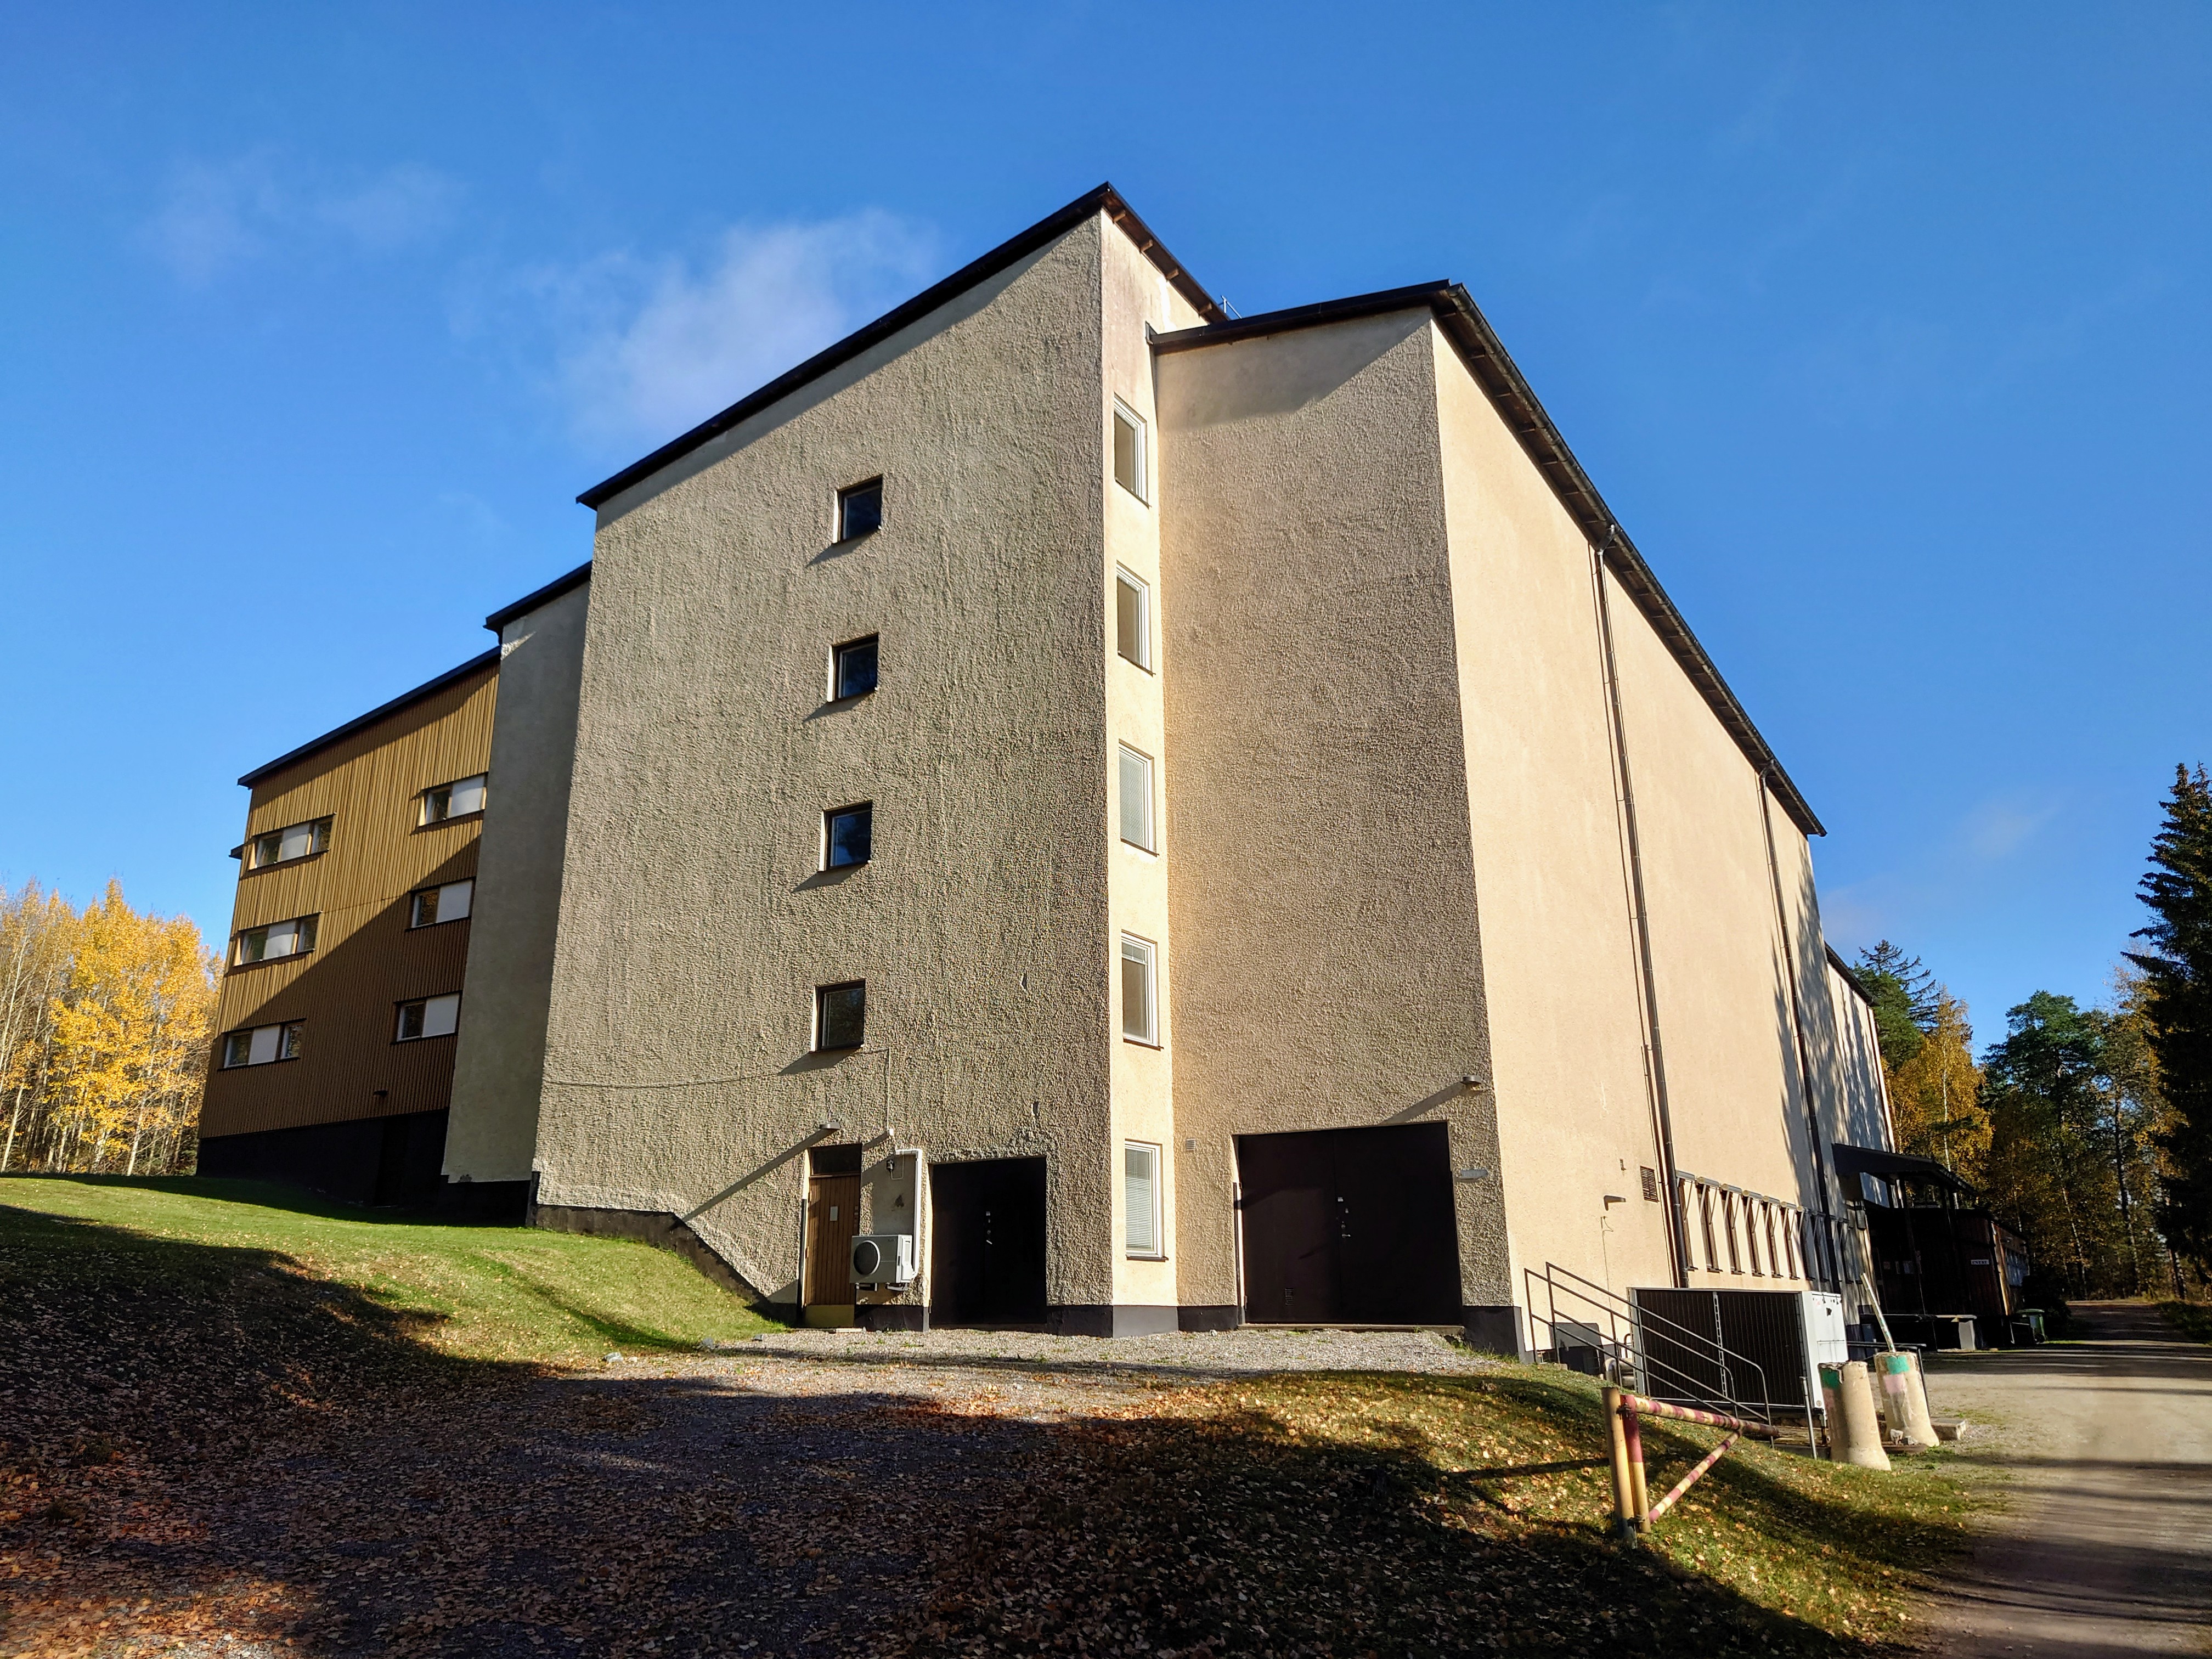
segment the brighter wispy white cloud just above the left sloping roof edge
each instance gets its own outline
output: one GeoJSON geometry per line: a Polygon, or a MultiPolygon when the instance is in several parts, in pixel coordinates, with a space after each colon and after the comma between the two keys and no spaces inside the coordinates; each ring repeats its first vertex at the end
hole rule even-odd
{"type": "Polygon", "coordinates": [[[887,212],[734,226],[703,259],[604,254],[524,288],[553,330],[577,436],[661,440],[922,285],[936,237],[887,212]]]}

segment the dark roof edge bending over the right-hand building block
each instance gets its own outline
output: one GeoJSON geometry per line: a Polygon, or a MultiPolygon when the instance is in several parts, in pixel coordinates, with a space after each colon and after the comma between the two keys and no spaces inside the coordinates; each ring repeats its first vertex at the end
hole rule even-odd
{"type": "Polygon", "coordinates": [[[1690,624],[1683,622],[1681,611],[1674,608],[1666,588],[1659,586],[1659,577],[1652,573],[1650,564],[1644,562],[1644,555],[1637,553],[1635,542],[1628,540],[1628,531],[1624,531],[1619,520],[1613,518],[1613,509],[1606,507],[1606,498],[1597,493],[1597,484],[1590,482],[1582,462],[1575,460],[1575,451],[1566,447],[1566,438],[1559,436],[1559,429],[1544,411],[1544,405],[1537,403],[1535,392],[1528,387],[1526,376],[1498,338],[1498,332],[1460,283],[1416,283],[1413,288],[1389,288],[1378,294],[1332,299],[1321,305],[1298,305],[1285,312],[1239,316],[1234,323],[1217,323],[1212,327],[1186,327],[1175,334],[1155,336],[1152,349],[1188,352],[1201,345],[1228,345],[1232,341],[1283,334],[1296,327],[1318,327],[1323,323],[1347,323],[1358,316],[1402,312],[1416,305],[1425,305],[1436,314],[1438,325],[1444,330],[1444,338],[1451,341],[1460,361],[1467,363],[1469,374],[1475,376],[1475,383],[1506,418],[1506,425],[1513,427],[1513,436],[1528,453],[1528,460],[1533,460],[1537,471],[1551,480],[1553,493],[1566,504],[1566,511],[1575,515],[1577,524],[1582,524],[1582,533],[1588,538],[1590,546],[1604,553],[1606,568],[1613,571],[1628,597],[1635,599],[1637,611],[1644,613],[1646,622],[1652,624],[1652,630],[1674,655],[1674,661],[1681,664],[1690,684],[1697,686],[1712,712],[1719,714],[1721,726],[1728,728],[1732,739],[1736,739],[1736,748],[1741,748],[1752,765],[1759,768],[1767,787],[1774,790],[1774,799],[1783,803],[1783,812],[1787,812],[1792,823],[1796,823],[1796,827],[1807,836],[1825,836],[1827,830],[1820,818],[1798,792],[1796,783],[1790,781],[1790,774],[1774,757],[1767,739],[1759,734],[1759,728],[1736,699],[1736,692],[1730,690],[1712,657],[1705,655],[1705,646],[1701,646],[1697,635],[1690,633],[1690,624]]]}

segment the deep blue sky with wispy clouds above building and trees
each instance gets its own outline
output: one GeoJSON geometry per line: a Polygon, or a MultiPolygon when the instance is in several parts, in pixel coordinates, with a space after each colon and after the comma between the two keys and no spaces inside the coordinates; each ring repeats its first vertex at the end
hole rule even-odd
{"type": "Polygon", "coordinates": [[[1241,312],[1464,281],[1832,940],[2104,993],[2212,761],[2212,11],[799,11],[0,4],[0,878],[221,933],[239,772],[1113,179],[1241,312]]]}

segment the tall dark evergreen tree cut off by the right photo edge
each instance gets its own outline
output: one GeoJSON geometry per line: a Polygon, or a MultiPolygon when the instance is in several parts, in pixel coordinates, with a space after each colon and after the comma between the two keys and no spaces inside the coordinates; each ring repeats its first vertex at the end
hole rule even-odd
{"type": "Polygon", "coordinates": [[[2143,1015],[2168,1119],[2159,1232],[2168,1248],[2212,1272],[2212,776],[2174,768],[2166,823],[2150,843],[2141,898],[2157,918],[2128,960],[2143,971],[2143,1015]]]}

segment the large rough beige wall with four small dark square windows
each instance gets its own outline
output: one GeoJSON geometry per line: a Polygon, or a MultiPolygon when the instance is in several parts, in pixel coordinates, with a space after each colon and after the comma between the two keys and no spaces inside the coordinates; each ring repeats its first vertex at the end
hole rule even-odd
{"type": "Polygon", "coordinates": [[[810,1141],[865,1141],[869,1181],[894,1141],[1042,1152],[1048,1296],[1108,1301],[1099,237],[602,509],[546,1203],[684,1214],[794,1298],[810,1141]],[[876,473],[883,529],[836,542],[876,473]],[[827,701],[832,644],[869,633],[880,690],[827,701]],[[818,874],[854,801],[874,863],[818,874]],[[849,978],[867,1046],[814,1055],[814,987],[849,978]]]}

